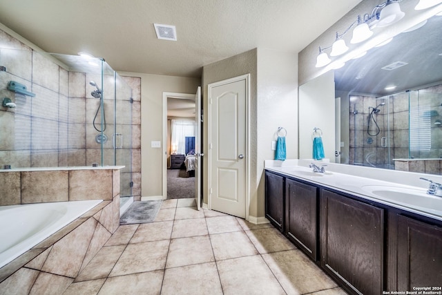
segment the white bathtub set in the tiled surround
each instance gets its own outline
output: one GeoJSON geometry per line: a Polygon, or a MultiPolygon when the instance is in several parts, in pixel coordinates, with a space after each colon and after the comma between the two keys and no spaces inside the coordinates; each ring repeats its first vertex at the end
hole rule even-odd
{"type": "Polygon", "coordinates": [[[0,207],[0,267],[73,222],[102,200],[0,207]]]}

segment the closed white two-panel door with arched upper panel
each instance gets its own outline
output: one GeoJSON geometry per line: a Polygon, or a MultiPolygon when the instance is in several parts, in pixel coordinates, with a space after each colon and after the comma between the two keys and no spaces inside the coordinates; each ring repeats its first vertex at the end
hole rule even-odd
{"type": "Polygon", "coordinates": [[[209,204],[246,218],[247,79],[209,84],[209,204]]]}

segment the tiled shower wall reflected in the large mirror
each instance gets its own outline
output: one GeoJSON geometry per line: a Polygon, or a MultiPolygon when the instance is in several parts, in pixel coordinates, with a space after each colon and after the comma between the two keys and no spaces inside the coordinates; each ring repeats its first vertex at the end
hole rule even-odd
{"type": "MultiPolygon", "coordinates": [[[[418,91],[403,92],[385,97],[369,97],[363,95],[350,95],[349,99],[349,164],[375,164],[380,168],[394,169],[394,158],[409,158],[409,109],[410,105],[430,105],[431,109],[442,115],[442,87],[432,86],[418,91]],[[409,100],[410,97],[410,100],[409,100]],[[369,106],[375,107],[381,102],[385,106],[379,106],[381,110],[374,115],[381,132],[378,135],[369,135],[367,126],[369,106]],[[390,129],[390,134],[387,132],[390,129]],[[389,151],[382,147],[382,137],[390,136],[390,162],[389,151]],[[369,138],[373,141],[369,143],[369,138]]],[[[442,127],[434,124],[436,120],[442,120],[440,115],[433,116],[431,136],[432,149],[430,151],[412,151],[414,158],[441,158],[442,156],[442,127]]],[[[374,122],[370,122],[370,133],[375,134],[374,122]]],[[[389,142],[387,142],[388,145],[389,142]]]]}

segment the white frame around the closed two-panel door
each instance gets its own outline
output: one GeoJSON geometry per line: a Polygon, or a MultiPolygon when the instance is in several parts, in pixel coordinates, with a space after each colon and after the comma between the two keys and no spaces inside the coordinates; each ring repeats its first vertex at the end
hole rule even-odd
{"type": "MultiPolygon", "coordinates": [[[[250,154],[250,74],[246,74],[246,75],[241,75],[241,76],[238,76],[238,77],[233,77],[233,78],[230,78],[230,79],[225,79],[225,80],[222,80],[222,81],[219,81],[219,82],[214,82],[214,83],[211,83],[211,84],[208,84],[207,85],[207,94],[208,94],[208,99],[209,99],[209,102],[211,101],[211,99],[212,99],[212,97],[211,97],[211,91],[212,91],[212,88],[213,87],[217,87],[217,86],[222,86],[222,85],[224,85],[224,84],[230,84],[230,83],[233,83],[233,82],[239,82],[239,81],[241,81],[241,80],[245,80],[246,81],[246,97],[245,97],[245,99],[246,99],[246,107],[245,107],[245,111],[246,111],[246,113],[245,113],[245,120],[246,120],[246,124],[245,124],[245,128],[246,128],[246,130],[245,130],[245,135],[246,135],[246,157],[245,157],[245,160],[246,160],[246,179],[245,179],[245,198],[246,198],[246,202],[245,202],[245,206],[246,206],[246,220],[249,220],[249,207],[250,207],[250,156],[251,156],[251,154],[250,154]]],[[[209,103],[209,105],[210,105],[210,103],[209,103]]],[[[212,139],[212,134],[211,134],[211,127],[212,127],[212,123],[211,123],[211,117],[212,117],[212,114],[211,114],[211,108],[208,108],[208,110],[207,110],[207,112],[208,112],[208,115],[207,115],[207,140],[208,140],[208,142],[209,142],[209,144],[208,144],[208,147],[209,147],[209,149],[208,149],[208,153],[207,153],[207,155],[208,155],[208,169],[207,169],[207,183],[208,183],[208,186],[207,186],[207,189],[209,190],[209,191],[207,191],[207,196],[209,196],[209,198],[208,198],[208,204],[207,204],[207,207],[208,207],[208,209],[209,210],[211,210],[212,209],[212,193],[211,193],[211,187],[212,187],[212,184],[211,184],[211,179],[212,179],[212,175],[211,175],[211,167],[212,167],[212,149],[211,149],[211,139],[212,139]]]]}

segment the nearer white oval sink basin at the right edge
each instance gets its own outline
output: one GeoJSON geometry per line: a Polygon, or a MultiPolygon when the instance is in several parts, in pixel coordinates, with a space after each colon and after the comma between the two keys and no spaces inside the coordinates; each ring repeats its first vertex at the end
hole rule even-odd
{"type": "Polygon", "coordinates": [[[382,197],[384,200],[399,202],[413,207],[423,207],[442,211],[442,198],[427,194],[426,189],[409,189],[381,185],[366,185],[364,191],[382,197]]]}

